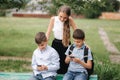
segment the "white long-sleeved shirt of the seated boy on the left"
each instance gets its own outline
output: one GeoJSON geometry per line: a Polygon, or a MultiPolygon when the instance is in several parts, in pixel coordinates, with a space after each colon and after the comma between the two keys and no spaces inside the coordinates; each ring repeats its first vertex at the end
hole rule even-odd
{"type": "Polygon", "coordinates": [[[59,55],[55,49],[52,47],[48,46],[46,47],[45,50],[40,50],[37,48],[33,52],[32,56],[32,68],[34,75],[40,74],[45,77],[49,76],[56,76],[57,75],[57,70],[59,69],[59,55]],[[45,71],[38,71],[37,70],[37,65],[45,65],[48,67],[48,70],[45,71]]]}

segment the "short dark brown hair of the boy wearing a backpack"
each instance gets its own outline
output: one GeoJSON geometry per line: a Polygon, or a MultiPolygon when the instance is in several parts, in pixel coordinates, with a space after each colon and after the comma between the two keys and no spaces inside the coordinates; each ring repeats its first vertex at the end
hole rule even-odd
{"type": "Polygon", "coordinates": [[[73,38],[74,39],[84,39],[85,38],[85,33],[83,30],[81,29],[76,29],[74,32],[73,32],[73,38]]]}

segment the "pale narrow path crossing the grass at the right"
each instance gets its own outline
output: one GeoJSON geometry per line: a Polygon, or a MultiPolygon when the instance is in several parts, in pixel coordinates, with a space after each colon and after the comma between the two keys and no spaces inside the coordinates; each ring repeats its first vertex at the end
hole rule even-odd
{"type": "Polygon", "coordinates": [[[114,46],[114,44],[112,44],[109,41],[107,33],[104,31],[103,28],[99,28],[99,34],[100,34],[100,37],[101,37],[104,45],[106,46],[106,49],[111,53],[110,56],[109,56],[110,60],[113,63],[120,63],[120,52],[116,48],[116,46],[114,46]]]}

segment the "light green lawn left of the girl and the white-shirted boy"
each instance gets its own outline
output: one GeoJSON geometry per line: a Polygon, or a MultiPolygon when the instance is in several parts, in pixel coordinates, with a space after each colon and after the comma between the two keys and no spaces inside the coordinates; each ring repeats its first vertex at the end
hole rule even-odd
{"type": "Polygon", "coordinates": [[[34,36],[46,31],[48,20],[27,18],[0,18],[0,55],[31,57],[36,48],[34,36]]]}

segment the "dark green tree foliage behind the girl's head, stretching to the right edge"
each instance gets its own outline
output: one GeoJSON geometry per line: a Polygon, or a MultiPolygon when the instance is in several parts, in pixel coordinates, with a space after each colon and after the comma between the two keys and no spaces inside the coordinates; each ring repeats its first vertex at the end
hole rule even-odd
{"type": "Polygon", "coordinates": [[[61,5],[69,5],[74,14],[87,18],[97,18],[103,11],[118,11],[120,7],[117,0],[52,0],[51,3],[47,8],[50,14],[55,15],[61,5]]]}

